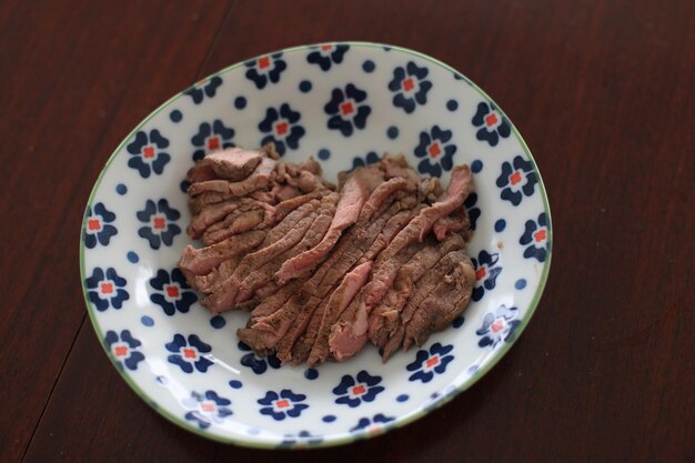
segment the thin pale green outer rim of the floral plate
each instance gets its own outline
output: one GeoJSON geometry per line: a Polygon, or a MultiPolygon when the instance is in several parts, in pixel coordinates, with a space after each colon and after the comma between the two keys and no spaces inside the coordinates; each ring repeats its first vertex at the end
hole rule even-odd
{"type": "MultiPolygon", "coordinates": [[[[547,192],[545,190],[545,184],[543,182],[543,178],[541,175],[541,171],[540,171],[540,169],[538,169],[538,167],[536,164],[535,159],[533,158],[531,149],[526,144],[526,141],[524,140],[522,134],[516,129],[516,125],[514,124],[514,122],[512,122],[512,120],[506,115],[504,110],[490,97],[490,94],[487,94],[487,92],[485,92],[481,87],[479,87],[475,82],[473,82],[471,79],[469,79],[465,74],[463,74],[462,72],[457,71],[456,69],[454,69],[450,64],[446,64],[445,62],[443,62],[443,61],[441,61],[441,60],[439,60],[436,58],[433,58],[433,57],[431,57],[429,54],[425,54],[423,52],[420,52],[420,51],[416,51],[416,50],[412,50],[412,49],[409,49],[409,48],[405,48],[405,47],[387,44],[387,43],[371,42],[371,41],[354,41],[354,40],[336,40],[336,41],[328,40],[328,41],[321,41],[321,42],[314,42],[314,43],[308,43],[308,44],[299,44],[299,46],[276,49],[276,50],[273,50],[273,51],[269,51],[269,52],[265,52],[265,53],[256,54],[254,57],[240,60],[240,61],[238,61],[238,62],[235,62],[233,64],[230,64],[230,66],[228,66],[225,68],[222,68],[222,69],[220,69],[220,70],[218,70],[215,72],[212,72],[212,73],[205,76],[203,79],[198,80],[192,85],[200,84],[202,82],[205,82],[205,81],[210,80],[211,78],[213,78],[215,76],[220,76],[220,74],[226,73],[226,72],[229,72],[229,71],[231,71],[233,69],[243,67],[248,61],[252,61],[252,60],[259,59],[259,58],[264,57],[264,56],[269,56],[269,54],[273,54],[273,53],[280,53],[280,52],[282,52],[283,54],[285,54],[285,53],[295,53],[295,52],[299,52],[299,51],[306,51],[306,50],[310,50],[312,47],[318,47],[320,44],[325,44],[325,43],[346,44],[346,46],[350,46],[350,47],[361,47],[361,48],[392,49],[392,50],[396,50],[399,52],[403,52],[403,53],[406,53],[406,54],[415,56],[415,57],[421,58],[421,59],[423,59],[425,61],[429,61],[429,62],[431,62],[431,63],[433,63],[433,64],[435,64],[437,67],[441,67],[441,68],[444,68],[445,70],[449,70],[454,76],[461,78],[466,83],[469,83],[483,98],[485,98],[487,101],[493,103],[495,105],[496,110],[500,111],[502,113],[502,115],[504,118],[506,118],[506,120],[510,122],[510,125],[512,128],[512,132],[514,133],[516,139],[520,141],[521,147],[522,147],[524,153],[528,157],[528,160],[532,163],[533,170],[534,170],[534,172],[537,175],[537,184],[538,184],[541,198],[542,198],[542,201],[543,201],[543,211],[545,212],[546,219],[547,219],[547,236],[548,236],[547,238],[547,242],[548,243],[553,243],[553,225],[552,225],[551,208],[550,208],[550,201],[547,199],[547,192]]],[[[113,150],[113,152],[111,153],[111,155],[109,157],[109,159],[104,163],[103,168],[101,169],[101,171],[99,173],[99,177],[94,181],[94,185],[92,187],[92,190],[91,190],[91,192],[89,194],[89,198],[87,200],[87,204],[84,207],[85,211],[87,211],[87,208],[89,208],[92,204],[94,195],[100,190],[101,182],[102,182],[107,171],[109,170],[111,164],[114,162],[114,160],[118,157],[119,152],[122,151],[122,149],[125,145],[125,143],[128,141],[130,141],[132,139],[132,137],[144,124],[147,124],[157,114],[159,114],[165,108],[168,108],[169,104],[172,103],[174,100],[177,100],[181,95],[183,95],[184,92],[188,89],[190,89],[192,85],[189,85],[189,88],[183,89],[182,91],[179,91],[174,95],[172,95],[171,98],[167,99],[167,101],[161,103],[155,110],[153,110],[145,118],[143,118],[123,138],[123,140],[113,150]]],[[[102,341],[103,336],[104,336],[104,332],[102,331],[101,326],[99,325],[99,322],[97,320],[97,314],[95,314],[95,312],[94,312],[94,310],[92,308],[92,304],[90,303],[90,301],[88,299],[88,288],[85,286],[85,278],[87,276],[85,276],[85,269],[84,269],[84,242],[83,242],[83,230],[84,230],[84,227],[87,224],[87,219],[88,219],[87,214],[83,214],[82,215],[82,222],[81,222],[80,231],[79,231],[80,281],[81,281],[81,285],[82,285],[82,295],[84,298],[84,303],[87,305],[87,312],[89,314],[89,319],[90,319],[92,328],[94,330],[94,334],[98,336],[98,342],[101,345],[102,350],[105,352],[107,356],[111,360],[112,366],[119,372],[119,375],[125,381],[125,383],[135,393],[135,395],[138,395],[145,404],[148,404],[152,410],[154,410],[159,415],[164,417],[167,421],[175,424],[177,426],[179,426],[179,427],[181,427],[181,429],[183,429],[185,431],[192,432],[195,435],[200,435],[200,436],[203,436],[205,439],[209,439],[209,440],[212,440],[212,441],[215,441],[215,442],[220,442],[220,443],[224,443],[224,444],[234,444],[234,445],[240,445],[240,446],[245,446],[245,447],[253,447],[253,449],[266,449],[266,450],[275,450],[275,449],[278,449],[278,444],[272,443],[270,441],[265,441],[265,440],[259,440],[258,437],[254,437],[254,436],[251,436],[251,435],[249,435],[249,436],[241,436],[241,434],[240,434],[240,437],[221,436],[221,435],[209,433],[209,432],[204,432],[204,431],[198,429],[197,426],[194,426],[193,424],[189,423],[188,421],[181,419],[178,415],[174,415],[173,413],[171,413],[170,411],[163,409],[162,406],[159,406],[152,400],[152,397],[139,386],[139,384],[137,383],[135,380],[131,379],[130,375],[124,370],[121,370],[121,369],[119,369],[117,366],[117,362],[115,362],[115,359],[113,358],[113,354],[105,348],[105,345],[104,345],[104,343],[102,341]]],[[[493,352],[491,352],[488,361],[485,363],[485,365],[483,368],[476,370],[473,374],[471,374],[465,380],[463,380],[463,382],[461,384],[457,384],[457,385],[455,385],[454,389],[447,391],[446,393],[441,394],[439,397],[436,397],[433,401],[431,401],[426,406],[422,406],[421,405],[417,410],[415,410],[415,411],[413,411],[411,413],[404,414],[402,416],[397,416],[394,421],[384,424],[383,427],[381,427],[377,432],[367,432],[367,431],[363,430],[363,432],[357,432],[357,433],[335,434],[335,436],[333,436],[333,437],[328,435],[328,436],[324,436],[324,439],[322,439],[320,442],[316,442],[316,443],[306,443],[306,442],[302,442],[301,440],[298,440],[298,442],[293,446],[291,446],[290,449],[331,447],[331,446],[349,444],[349,443],[352,443],[352,442],[355,442],[355,441],[359,441],[359,440],[363,440],[363,439],[369,439],[369,437],[374,437],[374,436],[377,436],[377,435],[383,435],[383,434],[389,433],[389,432],[391,432],[393,430],[396,430],[396,429],[403,427],[403,426],[405,426],[405,425],[407,425],[410,423],[413,423],[414,421],[416,421],[416,420],[425,416],[426,414],[431,413],[433,410],[439,409],[442,405],[449,403],[450,401],[452,401],[455,396],[457,396],[462,392],[469,390],[471,386],[473,386],[473,384],[477,383],[483,376],[485,376],[485,374],[487,374],[487,372],[490,372],[490,370],[492,370],[506,355],[508,350],[516,343],[516,341],[518,340],[521,334],[524,332],[524,330],[528,325],[528,322],[531,321],[531,318],[535,313],[535,311],[536,311],[536,309],[538,306],[538,303],[541,302],[541,298],[543,296],[543,292],[545,290],[546,283],[547,283],[547,278],[548,278],[548,273],[550,273],[550,269],[551,269],[552,256],[553,256],[553,249],[551,246],[548,246],[545,262],[543,262],[543,271],[541,273],[541,278],[538,280],[538,284],[537,284],[537,286],[535,289],[535,293],[534,293],[531,302],[528,303],[528,309],[524,313],[524,316],[521,319],[521,324],[516,329],[516,333],[513,336],[513,339],[510,340],[510,342],[503,343],[501,348],[498,348],[498,349],[494,350],[493,352]]]]}

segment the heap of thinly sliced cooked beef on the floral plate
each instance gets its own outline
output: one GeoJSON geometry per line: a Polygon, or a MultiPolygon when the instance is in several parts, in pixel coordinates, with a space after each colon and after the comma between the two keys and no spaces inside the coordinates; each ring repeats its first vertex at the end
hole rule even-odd
{"type": "Polygon", "coordinates": [[[314,365],[371,341],[386,361],[470,301],[467,165],[444,191],[385,154],[335,188],[313,159],[283,162],[269,144],[209,154],[188,180],[188,233],[205,248],[188,245],[179,266],[211,312],[251,311],[238,335],[260,355],[314,365]]]}

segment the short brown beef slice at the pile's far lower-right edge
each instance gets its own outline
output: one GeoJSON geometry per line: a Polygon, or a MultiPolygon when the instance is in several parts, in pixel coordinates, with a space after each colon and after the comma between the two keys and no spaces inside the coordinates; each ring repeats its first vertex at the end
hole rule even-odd
{"type": "Polygon", "coordinates": [[[465,252],[456,251],[459,260],[444,275],[405,323],[403,349],[413,343],[421,346],[430,334],[442,331],[461,313],[471,300],[475,284],[475,270],[465,252]]]}

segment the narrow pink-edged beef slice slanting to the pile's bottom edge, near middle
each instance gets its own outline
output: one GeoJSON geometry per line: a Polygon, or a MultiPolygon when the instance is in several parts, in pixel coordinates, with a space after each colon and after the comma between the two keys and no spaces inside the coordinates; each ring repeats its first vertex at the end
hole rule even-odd
{"type": "MultiPolygon", "coordinates": [[[[371,270],[372,261],[363,262],[345,274],[335,291],[326,294],[324,298],[325,303],[322,303],[316,309],[306,326],[306,331],[302,334],[301,339],[296,341],[292,350],[291,363],[296,365],[306,361],[310,352],[313,352],[312,349],[314,348],[315,341],[320,339],[319,331],[321,326],[324,325],[324,321],[325,324],[331,323],[331,319],[333,319],[335,314],[340,315],[343,310],[345,310],[360,289],[366,283],[371,270]],[[329,320],[326,320],[326,318],[329,318],[329,320]]],[[[316,358],[311,364],[313,365],[318,361],[323,362],[325,358],[316,358]]]]}

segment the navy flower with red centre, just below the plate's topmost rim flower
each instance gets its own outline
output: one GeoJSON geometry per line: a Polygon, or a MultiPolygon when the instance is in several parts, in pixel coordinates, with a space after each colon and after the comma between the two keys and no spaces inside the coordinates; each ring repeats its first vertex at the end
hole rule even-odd
{"type": "Polygon", "coordinates": [[[329,129],[340,130],[344,137],[352,135],[354,128],[364,129],[372,109],[364,103],[366,92],[349,83],[344,90],[333,89],[331,101],[323,110],[329,114],[329,129]]]}

